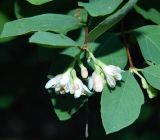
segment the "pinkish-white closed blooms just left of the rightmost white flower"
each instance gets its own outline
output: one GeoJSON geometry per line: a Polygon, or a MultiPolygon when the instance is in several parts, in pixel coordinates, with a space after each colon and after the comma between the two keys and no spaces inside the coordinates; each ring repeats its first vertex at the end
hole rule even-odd
{"type": "Polygon", "coordinates": [[[102,78],[102,76],[100,74],[96,74],[96,72],[93,72],[88,82],[89,89],[94,89],[94,91],[96,92],[102,92],[103,86],[104,79],[102,78]]]}

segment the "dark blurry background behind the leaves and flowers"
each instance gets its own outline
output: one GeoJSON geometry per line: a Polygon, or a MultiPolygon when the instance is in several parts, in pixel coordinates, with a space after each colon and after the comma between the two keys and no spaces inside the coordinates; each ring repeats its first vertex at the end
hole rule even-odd
{"type": "MultiPolygon", "coordinates": [[[[47,12],[66,14],[77,7],[76,0],[55,0],[43,6],[33,6],[25,0],[17,2],[23,17],[47,12]]],[[[5,22],[16,19],[14,4],[13,0],[0,1],[0,31],[5,22]]],[[[154,7],[158,10],[160,1],[142,0],[139,4],[145,9],[154,7]]],[[[124,19],[124,24],[125,29],[130,29],[153,23],[144,20],[133,10],[124,19]]],[[[119,29],[120,24],[113,30],[119,29]]],[[[134,124],[107,136],[101,124],[100,95],[90,98],[88,113],[83,107],[72,119],[59,121],[50,96],[44,89],[57,50],[29,44],[28,37],[0,40],[0,140],[83,140],[86,120],[89,123],[89,140],[160,139],[159,96],[152,100],[146,98],[140,117],[134,124]]],[[[141,67],[144,63],[139,49],[131,46],[131,51],[135,65],[141,67]]]]}

